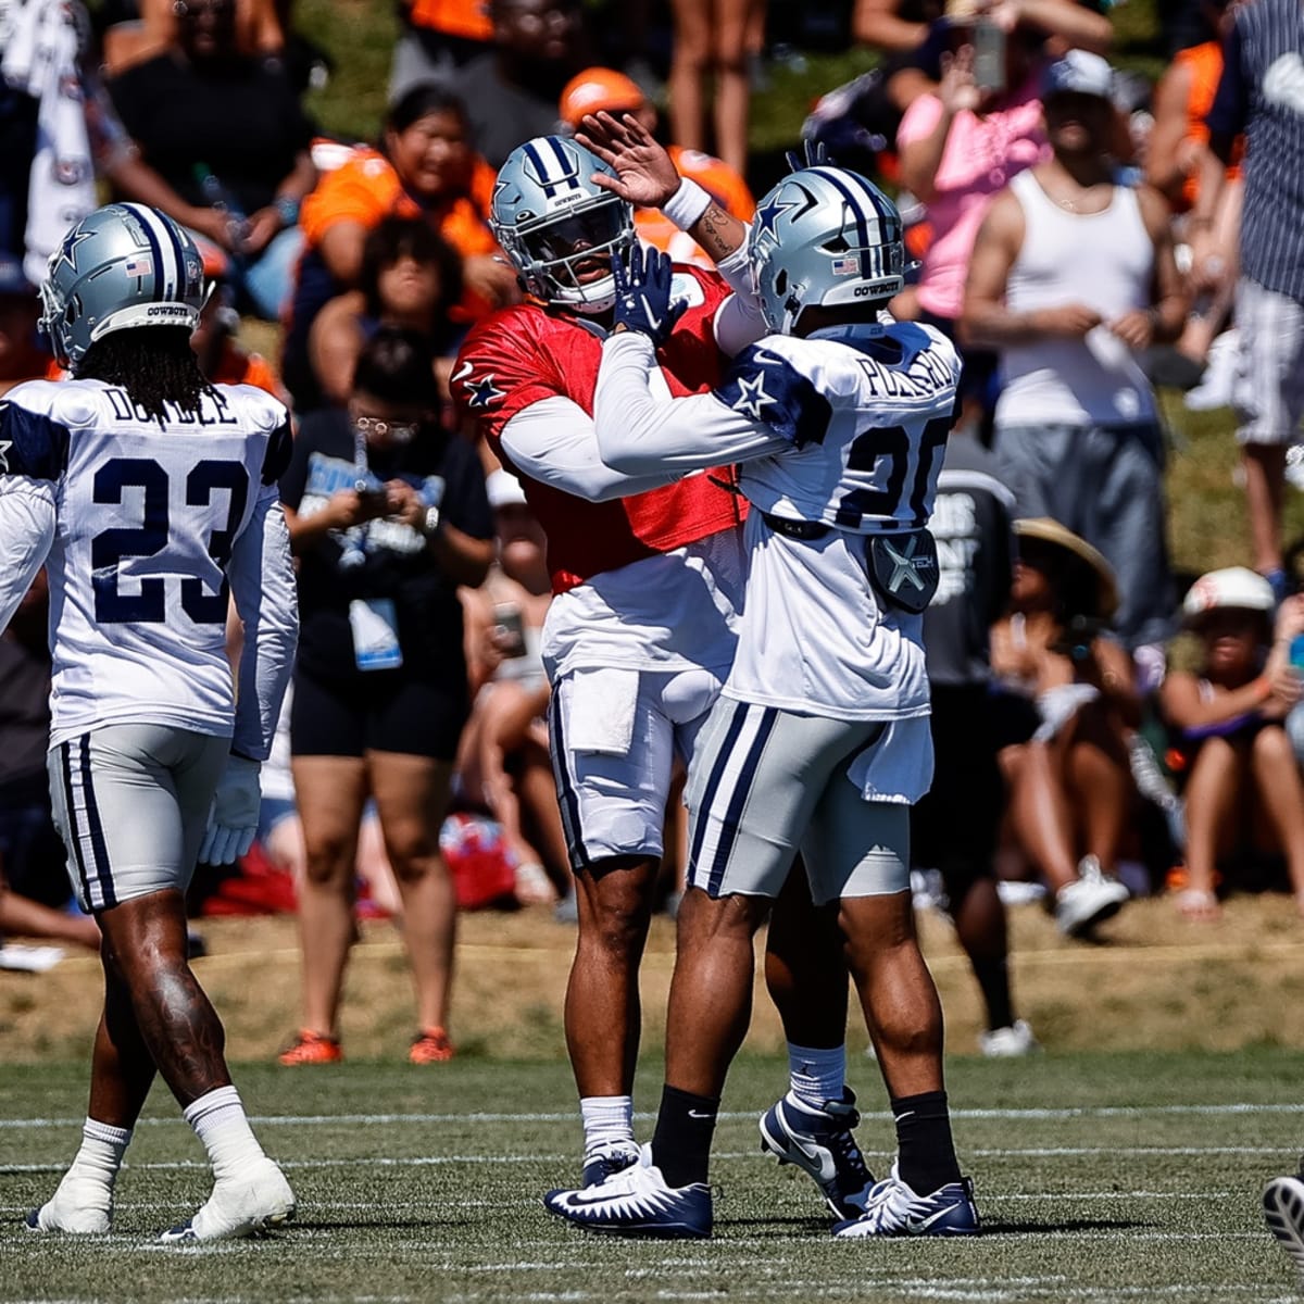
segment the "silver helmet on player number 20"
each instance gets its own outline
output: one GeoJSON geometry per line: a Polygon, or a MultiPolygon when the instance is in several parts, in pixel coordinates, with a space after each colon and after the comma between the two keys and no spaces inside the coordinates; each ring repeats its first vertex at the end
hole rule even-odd
{"type": "Polygon", "coordinates": [[[807,308],[870,304],[905,283],[901,214],[845,168],[785,176],[756,206],[750,241],[760,310],[780,335],[807,308]]]}

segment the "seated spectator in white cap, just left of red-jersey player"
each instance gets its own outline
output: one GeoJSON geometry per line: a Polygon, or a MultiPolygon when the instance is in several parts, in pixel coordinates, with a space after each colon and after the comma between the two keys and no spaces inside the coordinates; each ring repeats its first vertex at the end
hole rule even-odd
{"type": "Polygon", "coordinates": [[[502,825],[523,905],[570,891],[570,858],[548,751],[550,690],[540,655],[552,602],[546,540],[520,481],[494,471],[486,482],[498,562],[480,588],[463,588],[475,698],[458,754],[464,802],[502,825]]]}

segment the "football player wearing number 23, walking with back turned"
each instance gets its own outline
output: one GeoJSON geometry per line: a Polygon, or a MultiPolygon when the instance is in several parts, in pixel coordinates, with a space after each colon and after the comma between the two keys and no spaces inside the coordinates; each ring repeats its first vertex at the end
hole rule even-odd
{"type": "Polygon", "coordinates": [[[253,840],[299,629],[276,490],[286,409],[203,378],[190,351],[203,297],[200,253],[171,219],[98,209],[64,237],[42,287],[42,329],[73,378],[21,385],[0,404],[0,629],[44,565],[55,819],[104,939],[82,1142],[27,1215],[34,1232],[111,1230],[155,1072],[214,1172],[205,1205],[162,1239],[246,1236],[295,1213],[186,961],[197,859],[235,861],[253,840]],[[237,698],[228,593],[245,626],[237,698]]]}

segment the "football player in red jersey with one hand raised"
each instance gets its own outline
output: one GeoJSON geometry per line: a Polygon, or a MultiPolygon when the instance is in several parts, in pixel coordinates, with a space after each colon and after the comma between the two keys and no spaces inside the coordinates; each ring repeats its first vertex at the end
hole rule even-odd
{"type": "MultiPolygon", "coordinates": [[[[621,476],[597,452],[593,391],[613,321],[612,258],[623,258],[635,239],[623,189],[614,168],[571,140],[536,137],[510,155],[490,224],[529,299],[480,322],[452,376],[454,400],[520,477],[548,535],[556,597],[542,653],[579,915],[566,1041],[584,1121],[584,1185],[638,1158],[638,966],[672,767],[675,752],[687,759],[729,672],[743,578],[742,503],[732,472],[670,484],[664,475],[621,476]]],[[[711,389],[764,323],[742,223],[691,181],[665,211],[721,273],[674,269],[674,295],[685,306],[660,364],[668,393],[679,396],[711,389]]],[[[805,893],[801,878],[794,880],[792,891],[805,893]]],[[[776,910],[775,918],[767,978],[793,1072],[829,1082],[836,1076],[827,1094],[842,1102],[848,988],[835,922],[812,917],[808,906],[776,910]],[[829,932],[812,941],[812,927],[829,932]],[[827,990],[827,999],[795,1008],[798,966],[803,983],[827,990]]],[[[853,1158],[838,1163],[833,1181],[820,1181],[825,1198],[831,1189],[841,1201],[868,1188],[850,1137],[854,1123],[853,1110],[837,1114],[838,1141],[848,1144],[835,1153],[853,1158]]],[[[820,1158],[802,1166],[812,1176],[828,1167],[820,1158]]]]}

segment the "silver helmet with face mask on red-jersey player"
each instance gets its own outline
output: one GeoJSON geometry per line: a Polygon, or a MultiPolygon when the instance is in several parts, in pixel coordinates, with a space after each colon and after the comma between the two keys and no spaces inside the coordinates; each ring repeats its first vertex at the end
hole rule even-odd
{"type": "Polygon", "coordinates": [[[498,170],[489,226],[536,299],[582,313],[615,303],[608,274],[587,284],[578,266],[596,256],[625,258],[634,243],[634,210],[589,180],[615,171],[583,145],[536,136],[498,170]]]}

